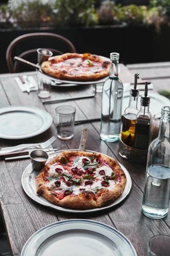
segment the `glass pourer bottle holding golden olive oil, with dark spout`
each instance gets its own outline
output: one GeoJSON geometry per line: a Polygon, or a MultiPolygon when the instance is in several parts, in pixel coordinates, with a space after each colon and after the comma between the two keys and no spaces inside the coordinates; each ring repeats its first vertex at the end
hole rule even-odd
{"type": "Polygon", "coordinates": [[[136,116],[139,112],[137,107],[139,95],[139,89],[136,88],[137,79],[139,79],[139,74],[135,74],[134,87],[130,89],[129,105],[124,111],[122,125],[122,141],[127,146],[132,147],[135,136],[136,116]]]}

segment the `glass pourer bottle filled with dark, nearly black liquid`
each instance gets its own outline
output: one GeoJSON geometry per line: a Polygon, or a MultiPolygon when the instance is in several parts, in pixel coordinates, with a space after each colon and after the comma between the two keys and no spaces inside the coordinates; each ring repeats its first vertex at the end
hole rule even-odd
{"type": "Polygon", "coordinates": [[[144,95],[141,97],[141,108],[136,116],[134,148],[148,149],[150,142],[151,113],[149,111],[150,96],[147,95],[145,82],[144,95]]]}

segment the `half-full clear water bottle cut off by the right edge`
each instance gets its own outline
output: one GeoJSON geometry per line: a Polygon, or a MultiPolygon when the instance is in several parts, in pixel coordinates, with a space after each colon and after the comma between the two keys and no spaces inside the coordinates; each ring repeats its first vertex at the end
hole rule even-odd
{"type": "Polygon", "coordinates": [[[142,212],[150,218],[164,218],[170,203],[170,107],[161,110],[158,138],[150,143],[142,212]]]}

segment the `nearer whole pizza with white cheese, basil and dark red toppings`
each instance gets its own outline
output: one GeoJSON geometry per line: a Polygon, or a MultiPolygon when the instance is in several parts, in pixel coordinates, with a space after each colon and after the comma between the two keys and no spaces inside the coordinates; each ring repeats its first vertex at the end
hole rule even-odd
{"type": "Polygon", "coordinates": [[[36,177],[37,193],[61,207],[90,209],[122,194],[126,176],[119,163],[99,153],[63,151],[36,177]]]}

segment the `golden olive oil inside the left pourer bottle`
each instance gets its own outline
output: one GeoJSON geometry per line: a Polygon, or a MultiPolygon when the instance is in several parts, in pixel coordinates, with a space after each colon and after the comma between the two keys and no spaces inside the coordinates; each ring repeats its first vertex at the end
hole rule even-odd
{"type": "Polygon", "coordinates": [[[127,114],[123,116],[122,141],[127,146],[133,146],[135,136],[136,115],[127,114]]]}

